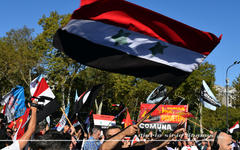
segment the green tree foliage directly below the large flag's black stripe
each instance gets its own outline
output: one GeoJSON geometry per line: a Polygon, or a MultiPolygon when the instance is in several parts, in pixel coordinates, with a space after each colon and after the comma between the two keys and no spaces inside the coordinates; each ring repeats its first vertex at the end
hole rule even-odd
{"type": "Polygon", "coordinates": [[[117,110],[111,105],[123,103],[128,107],[132,117],[137,116],[140,102],[146,102],[147,96],[158,85],[133,76],[109,73],[90,67],[81,71],[76,81],[81,83],[78,84],[78,89],[83,91],[96,84],[104,85],[97,97],[98,103],[103,101],[103,114],[116,114],[117,110]]]}

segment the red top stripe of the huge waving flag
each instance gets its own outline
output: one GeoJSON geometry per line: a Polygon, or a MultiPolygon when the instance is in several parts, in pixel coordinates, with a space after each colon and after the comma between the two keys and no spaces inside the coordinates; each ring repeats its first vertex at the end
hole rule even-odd
{"type": "Polygon", "coordinates": [[[95,20],[139,32],[208,55],[220,42],[209,32],[163,16],[125,0],[81,0],[72,19],[95,20]]]}

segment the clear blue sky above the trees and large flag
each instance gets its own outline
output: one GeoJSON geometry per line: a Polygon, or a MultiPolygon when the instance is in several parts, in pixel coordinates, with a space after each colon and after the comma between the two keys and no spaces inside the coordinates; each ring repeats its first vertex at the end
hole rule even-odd
{"type": "MultiPolygon", "coordinates": [[[[216,36],[223,35],[220,44],[205,59],[216,66],[215,84],[225,86],[226,70],[240,61],[240,1],[239,0],[128,0],[182,23],[216,36]]],[[[51,11],[71,14],[80,0],[4,0],[0,5],[0,37],[11,29],[24,25],[34,29],[34,35],[42,32],[37,24],[42,15],[51,11]]],[[[139,12],[141,14],[141,12],[139,12]]],[[[228,71],[230,85],[240,74],[240,64],[228,71]]]]}

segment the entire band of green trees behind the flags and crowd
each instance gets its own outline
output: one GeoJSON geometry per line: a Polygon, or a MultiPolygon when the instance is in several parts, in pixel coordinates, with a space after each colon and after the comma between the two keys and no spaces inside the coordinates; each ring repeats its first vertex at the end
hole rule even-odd
{"type": "MultiPolygon", "coordinates": [[[[53,36],[69,19],[70,15],[51,12],[48,17],[43,15],[39,20],[38,24],[43,32],[36,37],[32,36],[32,29],[23,27],[13,29],[6,33],[6,37],[0,38],[1,94],[6,94],[19,84],[25,87],[28,97],[30,81],[43,73],[47,75],[48,84],[64,107],[66,101],[70,100],[73,103],[76,89],[81,94],[94,85],[103,84],[97,97],[98,104],[103,102],[102,113],[116,115],[119,110],[113,108],[111,104],[123,103],[128,107],[132,119],[137,120],[140,103],[146,102],[147,96],[158,84],[133,76],[86,67],[55,49],[52,45],[53,36]]],[[[185,102],[189,104],[190,112],[196,116],[193,119],[195,122],[199,121],[199,93],[202,80],[205,80],[216,94],[213,88],[215,66],[206,62],[200,65],[199,69],[195,70],[170,97],[174,103],[177,103],[179,96],[184,97],[185,102]]],[[[234,80],[233,87],[237,91],[235,102],[240,103],[240,76],[234,80]]],[[[238,112],[239,109],[229,108],[229,123],[239,120],[238,112]]],[[[213,130],[224,129],[225,116],[224,106],[216,111],[203,108],[203,126],[213,130]]]]}

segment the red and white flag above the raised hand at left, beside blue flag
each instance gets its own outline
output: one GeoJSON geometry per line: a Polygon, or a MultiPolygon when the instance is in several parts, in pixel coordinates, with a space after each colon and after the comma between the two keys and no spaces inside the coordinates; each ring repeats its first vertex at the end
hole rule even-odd
{"type": "MultiPolygon", "coordinates": [[[[43,78],[42,75],[39,75],[30,83],[30,93],[33,97],[45,96],[51,99],[55,98],[55,95],[53,94],[52,90],[50,89],[45,78],[43,78]]],[[[45,100],[44,105],[46,105],[47,103],[49,103],[49,100],[45,100]]]]}

